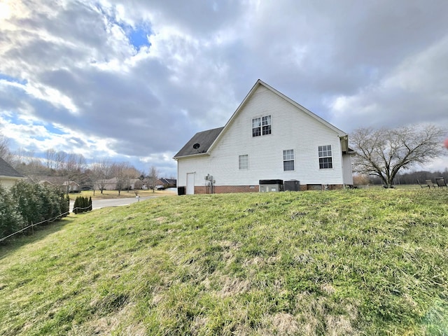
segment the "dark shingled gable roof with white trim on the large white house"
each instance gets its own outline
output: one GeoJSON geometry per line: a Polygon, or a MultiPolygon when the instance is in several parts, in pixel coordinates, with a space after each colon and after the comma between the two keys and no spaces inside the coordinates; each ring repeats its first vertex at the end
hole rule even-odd
{"type": "Polygon", "coordinates": [[[174,155],[174,159],[181,158],[183,156],[190,156],[190,155],[204,155],[204,153],[207,153],[214,146],[216,146],[219,139],[221,139],[221,137],[223,136],[225,131],[230,127],[230,124],[232,123],[232,121],[235,120],[235,118],[237,118],[239,111],[241,111],[241,109],[243,109],[246,102],[248,102],[248,99],[250,99],[252,97],[254,92],[260,86],[266,87],[267,90],[274,92],[274,94],[277,94],[279,97],[285,99],[290,104],[293,104],[293,106],[297,107],[297,109],[300,109],[300,111],[307,113],[307,115],[310,116],[311,118],[318,120],[320,123],[322,123],[326,127],[330,128],[330,130],[337,133],[337,135],[339,137],[346,137],[346,139],[347,139],[346,142],[347,142],[347,146],[348,146],[348,134],[346,134],[345,132],[342,132],[342,130],[339,130],[339,128],[331,125],[330,123],[328,123],[328,121],[323,120],[321,117],[312,113],[308,109],[305,109],[302,105],[297,104],[296,102],[293,101],[293,99],[290,99],[290,98],[286,97],[283,93],[275,90],[274,87],[267,85],[265,82],[258,79],[255,82],[255,85],[253,85],[251,90],[248,92],[248,94],[246,94],[246,97],[244,97],[241,104],[239,104],[237,110],[232,114],[232,116],[230,117],[228,122],[224,125],[224,127],[219,127],[219,128],[215,128],[214,130],[207,130],[204,132],[196,133],[193,136],[193,138],[191,138],[190,141],[188,141],[187,144],[185,146],[183,146],[181,151],[179,151],[179,153],[174,155]],[[204,144],[202,143],[202,141],[204,142],[204,144]],[[200,148],[197,148],[197,149],[193,148],[194,144],[200,144],[200,148]]]}

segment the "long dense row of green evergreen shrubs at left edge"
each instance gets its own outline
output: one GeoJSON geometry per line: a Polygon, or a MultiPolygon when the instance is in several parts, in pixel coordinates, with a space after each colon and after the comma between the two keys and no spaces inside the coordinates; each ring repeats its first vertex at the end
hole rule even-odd
{"type": "Polygon", "coordinates": [[[57,188],[19,181],[10,188],[0,184],[0,238],[32,223],[69,214],[70,199],[57,188]]]}

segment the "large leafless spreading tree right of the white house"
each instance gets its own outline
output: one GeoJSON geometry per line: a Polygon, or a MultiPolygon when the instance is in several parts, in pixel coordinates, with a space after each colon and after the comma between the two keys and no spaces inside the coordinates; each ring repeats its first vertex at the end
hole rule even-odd
{"type": "Polygon", "coordinates": [[[353,171],[377,176],[390,188],[400,169],[437,158],[445,133],[435,125],[355,130],[350,136],[350,146],[356,152],[353,171]]]}

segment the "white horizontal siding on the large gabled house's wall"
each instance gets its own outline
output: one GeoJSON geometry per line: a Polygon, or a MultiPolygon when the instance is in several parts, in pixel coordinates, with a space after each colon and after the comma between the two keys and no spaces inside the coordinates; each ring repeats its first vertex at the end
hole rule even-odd
{"type": "MultiPolygon", "coordinates": [[[[344,165],[346,163],[344,162],[344,165]]],[[[227,125],[210,156],[179,160],[178,185],[195,172],[195,186],[213,175],[216,186],[258,185],[260,179],[299,180],[300,184],[343,184],[338,134],[278,94],[260,85],[227,125]],[[272,117],[272,134],[252,137],[252,119],[272,117]],[[319,169],[318,146],[332,146],[332,169],[319,169]],[[295,170],[283,172],[283,150],[293,149],[295,170]],[[248,169],[239,170],[239,155],[248,155],[248,169]]],[[[348,174],[347,174],[348,176],[348,174]]]]}

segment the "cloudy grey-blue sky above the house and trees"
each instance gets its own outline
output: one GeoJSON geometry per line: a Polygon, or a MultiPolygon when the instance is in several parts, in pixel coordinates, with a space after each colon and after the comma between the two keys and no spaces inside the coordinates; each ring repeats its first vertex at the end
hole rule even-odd
{"type": "Polygon", "coordinates": [[[258,78],[345,132],[448,127],[447,13],[446,0],[0,0],[0,133],[13,151],[174,176],[173,155],[258,78]]]}

